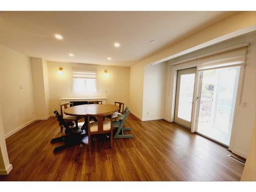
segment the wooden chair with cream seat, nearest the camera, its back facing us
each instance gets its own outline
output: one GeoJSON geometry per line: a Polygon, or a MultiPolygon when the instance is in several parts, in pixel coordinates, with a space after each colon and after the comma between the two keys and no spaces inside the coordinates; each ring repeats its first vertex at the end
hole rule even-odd
{"type": "Polygon", "coordinates": [[[112,113],[101,114],[101,115],[90,115],[88,114],[88,147],[91,151],[91,136],[97,134],[110,133],[110,146],[113,147],[113,120],[112,113]],[[91,118],[97,118],[97,122],[90,122],[91,118]],[[104,121],[105,117],[110,118],[110,121],[104,121]]]}

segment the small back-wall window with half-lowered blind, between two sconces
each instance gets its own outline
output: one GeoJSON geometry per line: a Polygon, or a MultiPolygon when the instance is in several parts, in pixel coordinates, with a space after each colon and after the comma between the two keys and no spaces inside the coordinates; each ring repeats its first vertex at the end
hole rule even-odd
{"type": "Polygon", "coordinates": [[[97,70],[73,68],[73,92],[78,94],[97,94],[97,70]]]}

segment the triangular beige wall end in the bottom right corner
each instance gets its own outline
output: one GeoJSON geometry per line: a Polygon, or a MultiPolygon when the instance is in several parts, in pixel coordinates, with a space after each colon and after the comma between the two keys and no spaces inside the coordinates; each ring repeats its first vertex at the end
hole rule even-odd
{"type": "Polygon", "coordinates": [[[246,159],[245,167],[241,177],[241,181],[256,181],[256,127],[254,121],[254,129],[251,136],[250,147],[246,159]]]}

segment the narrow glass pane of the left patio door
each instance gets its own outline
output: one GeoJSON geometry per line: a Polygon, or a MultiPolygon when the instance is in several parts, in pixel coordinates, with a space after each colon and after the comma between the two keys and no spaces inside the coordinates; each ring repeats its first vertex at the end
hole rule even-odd
{"type": "Polygon", "coordinates": [[[195,74],[184,74],[180,77],[178,117],[191,121],[195,74]]]}

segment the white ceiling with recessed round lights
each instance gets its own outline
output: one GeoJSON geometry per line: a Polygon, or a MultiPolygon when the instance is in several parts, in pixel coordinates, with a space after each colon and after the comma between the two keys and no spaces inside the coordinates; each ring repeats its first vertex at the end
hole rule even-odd
{"type": "Polygon", "coordinates": [[[0,12],[0,44],[52,61],[132,66],[233,13],[0,12]],[[56,33],[63,40],[55,39],[56,33]],[[121,46],[115,48],[114,42],[121,46]]]}

